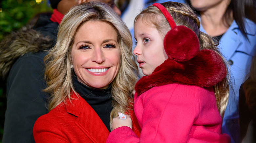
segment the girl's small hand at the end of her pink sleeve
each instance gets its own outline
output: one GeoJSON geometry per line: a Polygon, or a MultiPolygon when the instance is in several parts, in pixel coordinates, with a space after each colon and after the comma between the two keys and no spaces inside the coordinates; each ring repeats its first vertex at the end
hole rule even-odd
{"type": "Polygon", "coordinates": [[[115,130],[118,127],[127,126],[132,129],[132,119],[129,115],[126,115],[126,119],[120,119],[119,116],[113,119],[111,123],[111,131],[115,130]]]}

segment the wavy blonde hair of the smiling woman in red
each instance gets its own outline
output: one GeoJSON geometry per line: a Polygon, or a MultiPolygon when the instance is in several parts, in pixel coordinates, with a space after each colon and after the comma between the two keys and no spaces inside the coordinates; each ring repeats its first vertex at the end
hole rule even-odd
{"type": "MultiPolygon", "coordinates": [[[[138,80],[138,67],[131,52],[132,38],[129,29],[121,18],[107,4],[98,2],[82,3],[73,7],[63,18],[58,27],[57,43],[45,57],[45,78],[48,87],[44,91],[51,94],[49,110],[71,99],[73,74],[71,68],[71,49],[74,37],[81,25],[87,21],[109,23],[117,32],[117,42],[121,51],[121,64],[116,78],[111,83],[113,96],[111,120],[118,116],[117,112],[125,113],[133,109],[132,91],[138,80]],[[130,104],[131,103],[131,104],[130,104]]],[[[100,34],[100,33],[99,33],[100,34]]],[[[78,96],[78,95],[77,95],[78,96]]],[[[72,102],[71,102],[72,103],[72,102]]]]}

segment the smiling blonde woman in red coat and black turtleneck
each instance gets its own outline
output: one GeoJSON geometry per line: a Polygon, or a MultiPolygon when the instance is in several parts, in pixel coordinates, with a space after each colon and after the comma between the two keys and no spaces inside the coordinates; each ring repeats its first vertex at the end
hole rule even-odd
{"type": "Polygon", "coordinates": [[[45,57],[52,96],[50,112],[35,122],[35,142],[105,142],[117,112],[132,115],[138,68],[131,48],[129,29],[108,5],[72,8],[45,57]]]}

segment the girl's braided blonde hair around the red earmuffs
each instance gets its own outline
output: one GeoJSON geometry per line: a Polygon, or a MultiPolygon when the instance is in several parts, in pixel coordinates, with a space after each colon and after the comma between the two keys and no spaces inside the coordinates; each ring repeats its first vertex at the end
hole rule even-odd
{"type": "MultiPolygon", "coordinates": [[[[230,73],[228,72],[229,65],[226,59],[222,56],[218,49],[218,42],[215,42],[213,38],[209,35],[201,32],[200,29],[200,21],[197,15],[194,13],[193,9],[190,8],[187,4],[182,4],[178,2],[165,2],[161,3],[171,14],[173,20],[176,25],[184,25],[191,30],[193,30],[200,42],[200,50],[203,49],[211,49],[214,50],[218,55],[221,56],[226,69],[227,75],[223,81],[214,86],[216,102],[218,106],[218,110],[223,117],[225,108],[228,102],[229,96],[229,78],[230,73]]],[[[154,25],[159,33],[162,35],[162,38],[166,35],[166,33],[171,30],[171,27],[162,14],[162,12],[155,6],[149,6],[146,9],[142,10],[139,15],[136,16],[134,23],[142,18],[145,24],[154,25]]],[[[230,70],[229,70],[230,71],[230,70]]]]}

